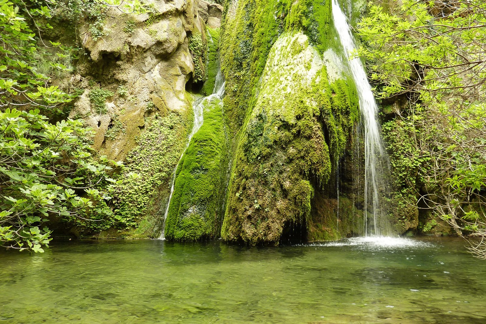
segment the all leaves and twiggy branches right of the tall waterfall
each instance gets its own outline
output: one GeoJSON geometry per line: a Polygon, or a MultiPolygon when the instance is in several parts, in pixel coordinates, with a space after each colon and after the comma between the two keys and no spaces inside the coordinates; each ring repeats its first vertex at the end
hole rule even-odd
{"type": "Polygon", "coordinates": [[[398,118],[414,147],[395,167],[416,168],[417,194],[458,235],[486,235],[485,26],[482,0],[371,5],[359,24],[377,94],[410,102],[398,118]]]}

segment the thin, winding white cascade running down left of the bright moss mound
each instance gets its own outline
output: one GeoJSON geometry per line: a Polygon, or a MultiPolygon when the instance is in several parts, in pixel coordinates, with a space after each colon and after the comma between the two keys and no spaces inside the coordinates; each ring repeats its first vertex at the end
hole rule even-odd
{"type": "Polygon", "coordinates": [[[199,131],[201,126],[203,125],[204,122],[204,102],[206,100],[212,100],[213,98],[218,98],[222,99],[223,95],[225,94],[225,78],[223,77],[223,73],[221,73],[221,69],[218,69],[218,73],[216,74],[216,79],[214,83],[214,90],[213,94],[207,96],[207,97],[202,97],[197,100],[195,100],[192,103],[192,110],[194,111],[194,125],[192,126],[192,131],[191,134],[189,134],[189,138],[186,144],[186,148],[182,152],[181,156],[179,157],[179,162],[177,162],[177,165],[175,166],[174,169],[174,174],[172,176],[172,183],[171,183],[171,193],[169,194],[169,201],[167,202],[167,206],[165,208],[165,213],[164,213],[164,219],[162,222],[162,232],[160,233],[159,239],[165,240],[165,221],[167,220],[167,215],[169,214],[169,206],[171,205],[171,199],[172,195],[174,194],[174,185],[175,185],[175,171],[177,170],[177,167],[179,166],[179,163],[182,159],[182,156],[184,153],[186,153],[187,148],[189,147],[189,144],[191,144],[191,139],[194,134],[199,131]]]}

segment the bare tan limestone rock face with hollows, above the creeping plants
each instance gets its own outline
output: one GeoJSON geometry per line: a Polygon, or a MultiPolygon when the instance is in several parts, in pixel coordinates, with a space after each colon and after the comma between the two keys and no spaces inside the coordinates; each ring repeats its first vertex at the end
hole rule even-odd
{"type": "Polygon", "coordinates": [[[80,60],[72,86],[87,89],[70,117],[85,119],[96,131],[94,149],[113,159],[123,160],[136,146],[150,115],[191,115],[186,94],[194,72],[189,35],[205,35],[207,17],[199,12],[207,13],[208,5],[201,11],[204,1],[146,2],[151,13],[123,15],[111,9],[102,30],[94,33],[87,23],[77,28],[87,57],[80,60]],[[112,93],[105,96],[108,109],[93,107],[89,93],[94,88],[112,93]]]}

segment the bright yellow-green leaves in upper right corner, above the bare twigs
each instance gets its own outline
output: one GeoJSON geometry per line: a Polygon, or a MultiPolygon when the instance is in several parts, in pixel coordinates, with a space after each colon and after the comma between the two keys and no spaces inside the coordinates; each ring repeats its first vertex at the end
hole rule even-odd
{"type": "Polygon", "coordinates": [[[371,5],[359,23],[367,47],[358,54],[368,58],[382,97],[420,91],[425,102],[468,98],[477,94],[471,89],[482,87],[485,23],[483,0],[458,0],[457,6],[404,0],[390,13],[371,5]]]}

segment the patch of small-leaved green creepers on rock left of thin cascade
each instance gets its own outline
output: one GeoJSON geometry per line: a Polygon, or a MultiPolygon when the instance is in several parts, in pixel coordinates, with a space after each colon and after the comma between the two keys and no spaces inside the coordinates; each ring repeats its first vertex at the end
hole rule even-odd
{"type": "MultiPolygon", "coordinates": [[[[155,114],[146,120],[146,129],[137,138],[138,146],[126,157],[127,165],[115,185],[117,194],[111,200],[115,216],[124,223],[136,227],[160,220],[157,213],[163,208],[161,197],[168,196],[168,184],[184,149],[189,126],[187,116],[174,112],[155,114]]],[[[143,229],[145,237],[158,235],[153,231],[154,227],[143,229]]],[[[139,229],[134,233],[140,236],[141,232],[139,229]]]]}

